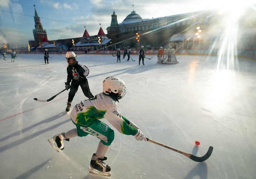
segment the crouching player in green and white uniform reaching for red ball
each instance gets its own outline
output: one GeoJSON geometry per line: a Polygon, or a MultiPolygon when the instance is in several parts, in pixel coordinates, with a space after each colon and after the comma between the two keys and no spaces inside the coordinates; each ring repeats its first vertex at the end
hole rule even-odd
{"type": "Polygon", "coordinates": [[[90,173],[110,176],[111,167],[103,161],[107,159],[105,154],[114,140],[114,130],[99,119],[105,118],[118,132],[133,135],[137,141],[146,141],[146,138],[137,125],[118,111],[117,102],[126,93],[125,82],[118,77],[110,76],[102,83],[102,93],[97,94],[93,99],[81,101],[73,108],[70,116],[75,128],[54,135],[48,141],[60,152],[64,149],[64,140],[69,141],[72,137],[83,137],[88,134],[96,136],[100,142],[91,157],[90,173]]]}

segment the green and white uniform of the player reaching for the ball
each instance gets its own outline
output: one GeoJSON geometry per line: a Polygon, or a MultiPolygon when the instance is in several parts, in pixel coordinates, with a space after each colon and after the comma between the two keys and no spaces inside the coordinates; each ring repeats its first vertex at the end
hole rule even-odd
{"type": "Polygon", "coordinates": [[[119,114],[116,101],[105,93],[76,104],[71,114],[76,125],[78,136],[88,134],[98,137],[104,145],[111,145],[114,131],[99,119],[105,118],[109,123],[125,135],[135,135],[138,130],[130,126],[130,121],[119,114]]]}

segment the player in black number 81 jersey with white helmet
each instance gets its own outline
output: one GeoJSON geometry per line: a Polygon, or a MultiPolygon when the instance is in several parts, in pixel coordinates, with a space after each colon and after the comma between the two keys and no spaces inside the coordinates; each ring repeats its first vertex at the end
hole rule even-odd
{"type": "Polygon", "coordinates": [[[76,61],[76,54],[74,52],[67,52],[66,60],[69,65],[67,67],[68,77],[65,85],[67,90],[70,88],[66,111],[69,112],[71,103],[79,86],[81,86],[81,89],[87,98],[94,98],[94,95],[90,92],[88,80],[86,78],[89,75],[89,69],[82,63],[76,61]]]}

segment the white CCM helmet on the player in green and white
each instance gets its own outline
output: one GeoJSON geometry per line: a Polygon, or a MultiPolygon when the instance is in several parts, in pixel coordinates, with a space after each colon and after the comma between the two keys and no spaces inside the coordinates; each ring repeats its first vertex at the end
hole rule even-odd
{"type": "Polygon", "coordinates": [[[118,77],[110,76],[103,80],[103,92],[121,99],[125,96],[125,82],[118,77]]]}

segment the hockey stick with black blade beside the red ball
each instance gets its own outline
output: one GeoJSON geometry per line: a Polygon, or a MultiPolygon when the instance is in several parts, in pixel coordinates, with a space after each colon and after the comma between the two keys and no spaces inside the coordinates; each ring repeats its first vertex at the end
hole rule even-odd
{"type": "Polygon", "coordinates": [[[173,150],[173,151],[175,151],[175,152],[181,153],[181,154],[183,154],[184,156],[188,157],[189,159],[194,160],[195,162],[203,162],[203,161],[207,160],[207,159],[211,156],[212,151],[213,151],[213,147],[210,146],[209,149],[208,149],[208,151],[207,151],[207,153],[206,153],[204,156],[202,156],[202,157],[197,157],[197,156],[194,156],[194,155],[192,155],[192,154],[190,154],[190,153],[186,153],[186,152],[183,152],[183,151],[181,151],[181,150],[178,150],[178,149],[169,147],[169,146],[167,146],[167,145],[165,145],[165,144],[161,144],[161,143],[159,143],[159,142],[153,141],[153,140],[151,140],[151,139],[148,139],[147,137],[146,137],[146,139],[147,139],[148,142],[152,142],[152,143],[157,144],[157,145],[160,145],[160,146],[162,146],[162,147],[171,149],[171,150],[173,150]]]}

